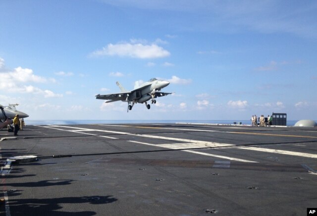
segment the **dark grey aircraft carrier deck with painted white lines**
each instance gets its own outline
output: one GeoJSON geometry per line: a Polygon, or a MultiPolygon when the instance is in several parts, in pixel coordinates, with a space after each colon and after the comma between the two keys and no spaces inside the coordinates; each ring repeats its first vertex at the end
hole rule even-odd
{"type": "Polygon", "coordinates": [[[317,208],[317,128],[28,126],[0,148],[1,216],[303,216],[317,208]],[[37,160],[7,160],[25,155],[37,160]]]}

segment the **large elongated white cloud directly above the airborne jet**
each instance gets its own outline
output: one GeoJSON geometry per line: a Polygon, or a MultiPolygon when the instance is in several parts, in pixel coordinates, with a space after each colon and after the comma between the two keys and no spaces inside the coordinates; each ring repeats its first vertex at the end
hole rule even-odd
{"type": "Polygon", "coordinates": [[[167,57],[170,53],[156,43],[150,45],[142,43],[109,43],[106,47],[91,54],[91,56],[104,55],[146,59],[167,57]]]}

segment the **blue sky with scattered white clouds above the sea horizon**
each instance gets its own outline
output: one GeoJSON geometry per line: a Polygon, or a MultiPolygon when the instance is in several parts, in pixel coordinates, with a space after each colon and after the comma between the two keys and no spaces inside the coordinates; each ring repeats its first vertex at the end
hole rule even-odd
{"type": "Polygon", "coordinates": [[[0,104],[32,120],[317,120],[317,2],[2,0],[0,104]],[[95,95],[168,80],[147,110],[95,95]]]}

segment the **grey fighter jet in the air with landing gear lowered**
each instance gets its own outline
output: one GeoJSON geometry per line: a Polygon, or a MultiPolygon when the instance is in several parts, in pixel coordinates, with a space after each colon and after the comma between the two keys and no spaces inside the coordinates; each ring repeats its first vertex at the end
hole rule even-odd
{"type": "Polygon", "coordinates": [[[151,108],[150,104],[147,103],[148,100],[151,100],[151,103],[156,103],[157,97],[166,96],[166,92],[161,92],[160,90],[163,87],[169,85],[169,82],[158,80],[156,78],[152,78],[146,83],[143,83],[139,86],[139,82],[135,82],[134,89],[131,91],[127,91],[119,82],[116,82],[117,86],[119,86],[121,93],[114,94],[98,94],[96,95],[96,99],[108,100],[105,103],[110,103],[114,101],[123,101],[128,102],[128,112],[132,109],[133,105],[136,103],[145,103],[148,109],[151,108]]]}

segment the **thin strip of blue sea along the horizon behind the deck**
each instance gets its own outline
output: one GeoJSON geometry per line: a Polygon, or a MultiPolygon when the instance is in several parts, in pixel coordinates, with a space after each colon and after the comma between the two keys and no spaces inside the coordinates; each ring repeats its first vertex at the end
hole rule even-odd
{"type": "MultiPolygon", "coordinates": [[[[242,125],[250,125],[250,120],[28,120],[26,125],[86,125],[86,124],[174,124],[174,123],[207,123],[227,124],[234,122],[242,125]]],[[[297,120],[287,120],[287,126],[294,126],[297,120]]]]}

